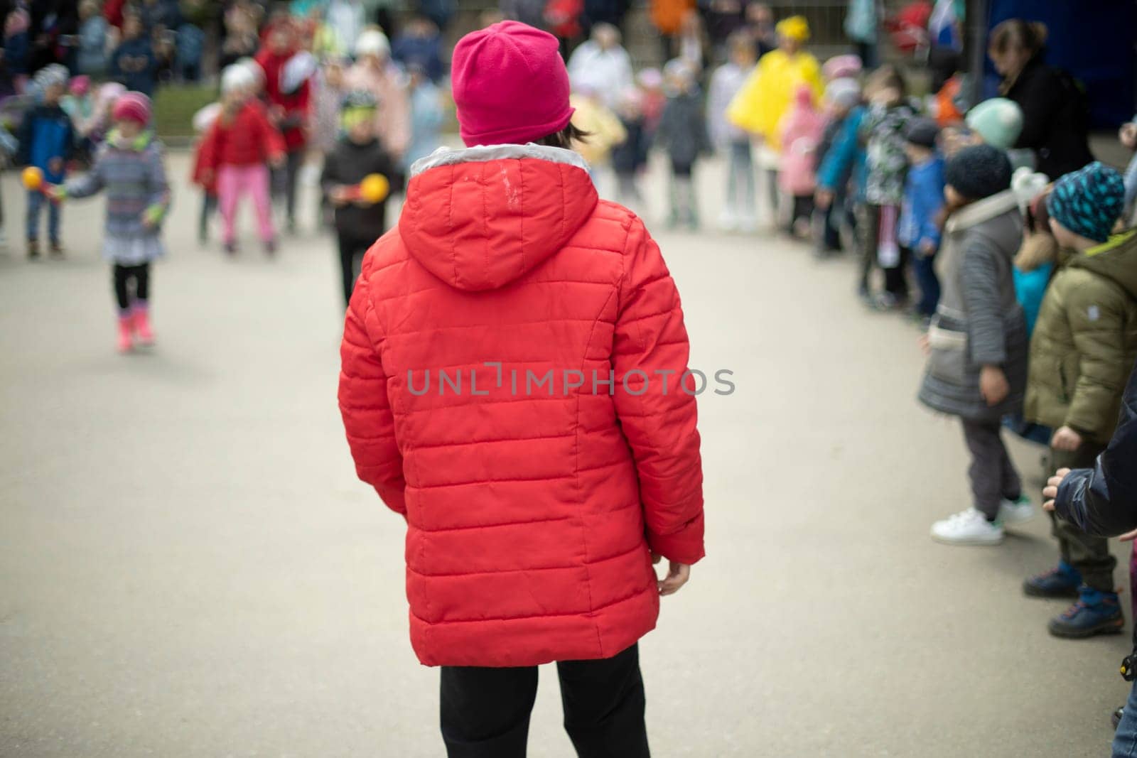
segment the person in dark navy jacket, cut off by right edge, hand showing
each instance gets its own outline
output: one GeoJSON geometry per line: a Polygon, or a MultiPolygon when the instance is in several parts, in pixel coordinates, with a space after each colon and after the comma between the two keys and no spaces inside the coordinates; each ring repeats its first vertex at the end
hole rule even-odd
{"type": "MultiPolygon", "coordinates": [[[[1112,536],[1128,532],[1122,540],[1137,536],[1137,366],[1129,375],[1129,384],[1121,403],[1121,414],[1113,439],[1097,457],[1094,468],[1059,469],[1051,477],[1043,495],[1048,500],[1043,508],[1053,510],[1087,534],[1112,536]]],[[[1137,569],[1137,553],[1129,561],[1130,584],[1137,569]]],[[[1130,589],[1130,592],[1134,592],[1130,589]]],[[[1134,651],[1137,653],[1137,628],[1134,630],[1134,651]]],[[[1129,664],[1132,668],[1132,664],[1129,664]]],[[[1117,718],[1114,716],[1114,718],[1117,718]]],[[[1137,685],[1129,693],[1129,702],[1121,709],[1121,720],[1113,736],[1113,755],[1131,756],[1137,752],[1137,685]]]]}

